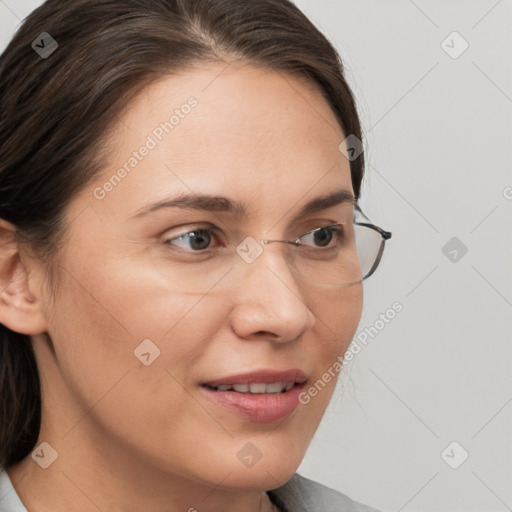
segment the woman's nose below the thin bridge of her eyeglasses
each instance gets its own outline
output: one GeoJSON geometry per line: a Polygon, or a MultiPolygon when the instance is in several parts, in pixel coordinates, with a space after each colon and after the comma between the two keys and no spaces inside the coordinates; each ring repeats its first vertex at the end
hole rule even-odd
{"type": "Polygon", "coordinates": [[[286,263],[286,244],[262,247],[252,263],[238,262],[231,325],[241,338],[293,341],[313,326],[315,316],[286,263]]]}

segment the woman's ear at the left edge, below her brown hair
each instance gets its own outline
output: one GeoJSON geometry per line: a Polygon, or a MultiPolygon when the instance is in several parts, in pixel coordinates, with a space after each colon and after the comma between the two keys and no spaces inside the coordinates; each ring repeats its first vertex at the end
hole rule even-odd
{"type": "Polygon", "coordinates": [[[0,322],[20,334],[42,334],[47,324],[41,308],[41,280],[35,276],[35,260],[29,260],[34,268],[23,264],[15,233],[13,224],[0,219],[0,322]]]}

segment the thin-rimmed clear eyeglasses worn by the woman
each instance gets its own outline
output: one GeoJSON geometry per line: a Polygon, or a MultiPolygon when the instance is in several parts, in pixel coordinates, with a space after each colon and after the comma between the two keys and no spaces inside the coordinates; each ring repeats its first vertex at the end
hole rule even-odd
{"type": "Polygon", "coordinates": [[[243,280],[244,272],[258,265],[264,247],[276,242],[287,245],[285,260],[296,279],[312,286],[350,286],[375,272],[391,238],[391,232],[372,224],[358,205],[354,206],[353,222],[318,227],[295,240],[255,240],[248,236],[235,243],[226,242],[224,235],[223,247],[211,248],[216,231],[220,230],[198,228],[167,240],[170,261],[161,256],[155,261],[183,293],[205,294],[213,287],[230,286],[234,279],[243,280]],[[199,250],[184,250],[177,245],[180,242],[199,250]]]}

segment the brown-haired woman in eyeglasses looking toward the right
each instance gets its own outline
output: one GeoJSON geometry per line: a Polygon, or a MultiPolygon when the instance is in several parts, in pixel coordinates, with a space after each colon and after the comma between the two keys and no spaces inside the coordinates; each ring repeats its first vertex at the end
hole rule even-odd
{"type": "Polygon", "coordinates": [[[49,0],[0,70],[0,510],[374,510],[295,473],[391,236],[325,37],[49,0]]]}

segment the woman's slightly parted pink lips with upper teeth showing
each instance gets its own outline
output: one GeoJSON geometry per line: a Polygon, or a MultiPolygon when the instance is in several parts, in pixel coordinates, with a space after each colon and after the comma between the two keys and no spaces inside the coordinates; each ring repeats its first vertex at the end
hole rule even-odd
{"type": "Polygon", "coordinates": [[[260,370],[203,382],[202,392],[216,405],[253,422],[272,422],[291,414],[306,382],[302,370],[260,370]]]}

